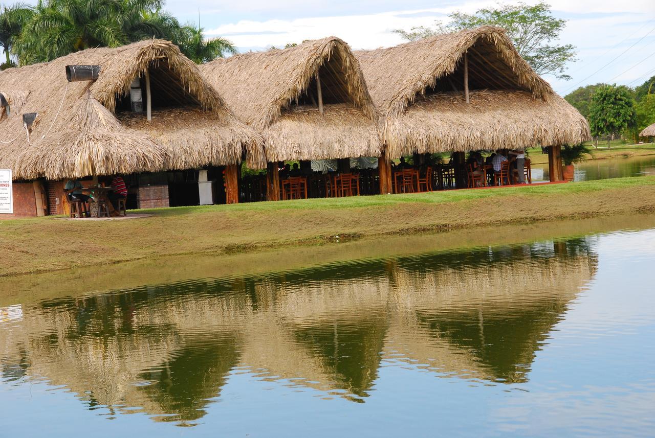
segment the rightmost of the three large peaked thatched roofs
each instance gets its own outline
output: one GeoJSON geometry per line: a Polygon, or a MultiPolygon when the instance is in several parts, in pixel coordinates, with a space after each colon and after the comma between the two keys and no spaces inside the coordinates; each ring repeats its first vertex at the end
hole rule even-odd
{"type": "Polygon", "coordinates": [[[589,138],[584,117],[534,73],[497,27],[354,54],[383,117],[389,157],[589,138]]]}

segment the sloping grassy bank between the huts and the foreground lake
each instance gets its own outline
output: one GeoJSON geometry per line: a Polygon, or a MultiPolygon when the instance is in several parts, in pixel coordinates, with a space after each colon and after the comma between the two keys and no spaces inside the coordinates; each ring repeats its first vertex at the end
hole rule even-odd
{"type": "MultiPolygon", "coordinates": [[[[655,177],[637,177],[489,190],[179,207],[145,211],[153,216],[122,221],[0,219],[0,247],[9,255],[0,265],[0,275],[153,256],[225,254],[352,237],[654,211],[655,177]]],[[[90,275],[94,272],[89,269],[90,275]]]]}

